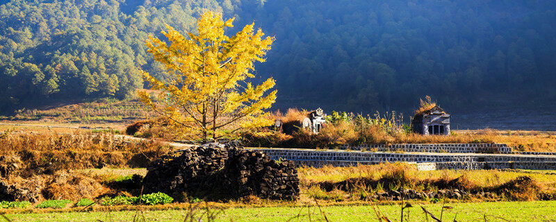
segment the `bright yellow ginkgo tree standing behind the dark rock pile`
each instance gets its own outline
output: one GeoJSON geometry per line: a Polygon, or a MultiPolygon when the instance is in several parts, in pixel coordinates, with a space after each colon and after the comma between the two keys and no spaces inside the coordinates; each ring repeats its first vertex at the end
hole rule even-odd
{"type": "Polygon", "coordinates": [[[142,71],[143,78],[157,89],[154,100],[145,90],[141,101],[170,119],[181,135],[208,142],[241,129],[269,126],[266,109],[276,100],[275,80],[260,85],[254,78],[254,62],[264,62],[274,37],[265,36],[254,23],[234,36],[224,35],[234,19],[204,12],[197,19],[197,33],[186,36],[167,26],[167,42],[147,40],[148,52],[161,62],[170,78],[165,81],[142,71]]]}

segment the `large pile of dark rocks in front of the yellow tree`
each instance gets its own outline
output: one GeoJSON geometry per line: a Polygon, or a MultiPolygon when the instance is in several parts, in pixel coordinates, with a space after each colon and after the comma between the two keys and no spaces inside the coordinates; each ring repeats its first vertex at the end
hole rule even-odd
{"type": "Polygon", "coordinates": [[[224,199],[250,195],[294,199],[299,178],[293,162],[270,160],[264,153],[222,144],[205,144],[164,155],[147,167],[144,193],[174,198],[224,199]]]}

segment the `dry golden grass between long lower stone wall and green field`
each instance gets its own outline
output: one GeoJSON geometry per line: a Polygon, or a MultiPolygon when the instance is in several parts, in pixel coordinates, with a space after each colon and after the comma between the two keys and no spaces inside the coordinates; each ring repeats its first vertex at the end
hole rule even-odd
{"type": "MultiPolygon", "coordinates": [[[[538,200],[540,194],[556,194],[556,173],[546,171],[417,171],[409,164],[377,164],[358,167],[301,167],[303,194],[322,200],[357,200],[361,194],[399,188],[417,191],[460,189],[489,191],[499,200],[538,200]]],[[[302,198],[306,196],[302,195],[302,198]]]]}

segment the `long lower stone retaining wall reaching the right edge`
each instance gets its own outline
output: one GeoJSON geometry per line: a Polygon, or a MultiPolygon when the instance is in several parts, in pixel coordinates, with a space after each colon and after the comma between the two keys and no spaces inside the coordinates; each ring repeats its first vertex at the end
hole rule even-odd
{"type": "MultiPolygon", "coordinates": [[[[274,160],[292,160],[297,165],[322,167],[354,166],[380,162],[436,163],[436,169],[556,169],[554,155],[509,155],[478,153],[375,153],[320,151],[288,148],[253,148],[274,160]],[[485,165],[487,164],[487,165],[485,165]]],[[[432,168],[430,166],[425,169],[432,168]]]]}

